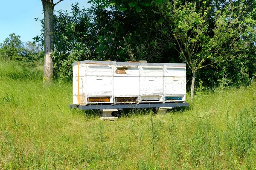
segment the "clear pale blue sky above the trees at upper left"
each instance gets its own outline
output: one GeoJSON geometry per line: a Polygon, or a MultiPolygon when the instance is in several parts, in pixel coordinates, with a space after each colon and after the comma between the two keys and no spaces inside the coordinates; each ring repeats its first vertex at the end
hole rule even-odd
{"type": "MultiPolygon", "coordinates": [[[[58,3],[54,10],[70,11],[72,3],[79,3],[81,8],[90,8],[88,0],[64,0],[58,3]]],[[[53,0],[54,3],[58,0],[53,0]]],[[[0,0],[0,43],[15,33],[23,42],[32,41],[33,37],[41,34],[41,24],[35,18],[43,19],[41,0],[0,0]]]]}

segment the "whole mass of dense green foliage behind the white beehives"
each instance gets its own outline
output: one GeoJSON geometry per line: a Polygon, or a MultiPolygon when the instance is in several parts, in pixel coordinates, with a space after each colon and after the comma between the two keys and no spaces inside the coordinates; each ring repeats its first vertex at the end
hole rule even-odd
{"type": "MultiPolygon", "coordinates": [[[[85,59],[186,62],[207,87],[248,85],[256,74],[254,1],[90,3],[90,9],[76,3],[70,13],[55,15],[56,79],[71,81],[72,62],[85,59]]],[[[44,44],[43,25],[41,31],[34,40],[44,44]]],[[[188,71],[188,83],[191,75],[188,71]]]]}

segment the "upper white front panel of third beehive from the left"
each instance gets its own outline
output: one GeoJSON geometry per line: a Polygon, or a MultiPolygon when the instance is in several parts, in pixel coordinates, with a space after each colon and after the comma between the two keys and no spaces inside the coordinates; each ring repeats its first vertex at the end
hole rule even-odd
{"type": "Polygon", "coordinates": [[[140,76],[163,77],[163,66],[140,66],[140,76]]]}

